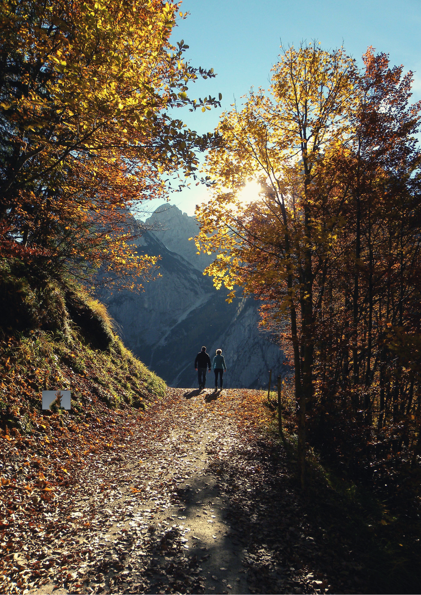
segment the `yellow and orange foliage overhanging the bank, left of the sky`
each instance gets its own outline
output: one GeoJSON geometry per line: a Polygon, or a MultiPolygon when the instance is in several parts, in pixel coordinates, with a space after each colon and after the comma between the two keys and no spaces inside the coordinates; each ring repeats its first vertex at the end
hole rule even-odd
{"type": "Polygon", "coordinates": [[[169,109],[218,104],[187,96],[214,75],[184,60],[183,41],[169,43],[177,11],[163,0],[1,2],[3,257],[58,277],[153,266],[130,246],[127,211],[165,196],[165,177],[194,176],[212,136],[169,109]]]}

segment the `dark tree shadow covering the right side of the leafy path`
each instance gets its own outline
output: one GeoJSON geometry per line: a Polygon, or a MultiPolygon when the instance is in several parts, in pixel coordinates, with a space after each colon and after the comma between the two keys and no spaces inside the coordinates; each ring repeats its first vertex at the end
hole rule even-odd
{"type": "Polygon", "coordinates": [[[250,440],[222,455],[218,439],[207,445],[205,477],[178,489],[180,511],[199,538],[191,553],[210,555],[215,593],[369,592],[350,544],[327,536],[335,518],[314,517],[300,496],[282,446],[250,440]]]}

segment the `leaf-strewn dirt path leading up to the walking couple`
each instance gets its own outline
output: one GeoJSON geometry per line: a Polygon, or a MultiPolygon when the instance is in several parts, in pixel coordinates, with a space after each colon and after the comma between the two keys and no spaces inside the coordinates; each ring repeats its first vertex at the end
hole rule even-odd
{"type": "Polygon", "coordinates": [[[261,401],[168,389],[125,447],[79,472],[73,535],[40,550],[49,580],[26,592],[365,592],[348,544],[339,536],[332,549],[293,463],[249,415],[261,401]]]}

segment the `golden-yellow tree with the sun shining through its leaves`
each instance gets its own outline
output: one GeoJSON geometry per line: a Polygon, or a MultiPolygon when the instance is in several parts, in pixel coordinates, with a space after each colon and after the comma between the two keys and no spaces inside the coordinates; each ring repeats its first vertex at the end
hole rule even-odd
{"type": "Polygon", "coordinates": [[[323,227],[316,220],[323,207],[315,205],[312,186],[323,154],[347,134],[357,71],[343,49],[325,52],[313,43],[285,51],[273,72],[271,96],[260,89],[241,111],[222,116],[223,140],[207,162],[214,198],[197,211],[199,246],[218,251],[208,267],[217,287],[239,284],[275,300],[288,320],[304,484],[306,406],[314,394],[314,285],[323,274],[314,247],[327,253],[334,233],[329,221],[323,227]],[[244,206],[238,193],[247,180],[259,181],[264,192],[244,206]]]}

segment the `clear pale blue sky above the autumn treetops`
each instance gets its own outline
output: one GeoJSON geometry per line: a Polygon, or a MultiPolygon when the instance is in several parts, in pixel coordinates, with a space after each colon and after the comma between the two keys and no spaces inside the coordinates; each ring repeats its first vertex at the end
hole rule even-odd
{"type": "MultiPolygon", "coordinates": [[[[184,0],[186,20],[178,19],[172,42],[184,39],[191,65],[213,68],[218,76],[191,85],[190,96],[217,96],[222,109],[203,114],[177,112],[191,129],[213,130],[224,109],[250,87],[269,86],[279,46],[317,39],[323,49],[344,45],[362,64],[367,46],[389,54],[391,65],[414,71],[413,101],[421,99],[420,0],[184,0]]],[[[171,203],[188,215],[206,198],[205,187],[171,195],[171,203]]],[[[155,209],[154,201],[147,205],[155,209]]]]}

